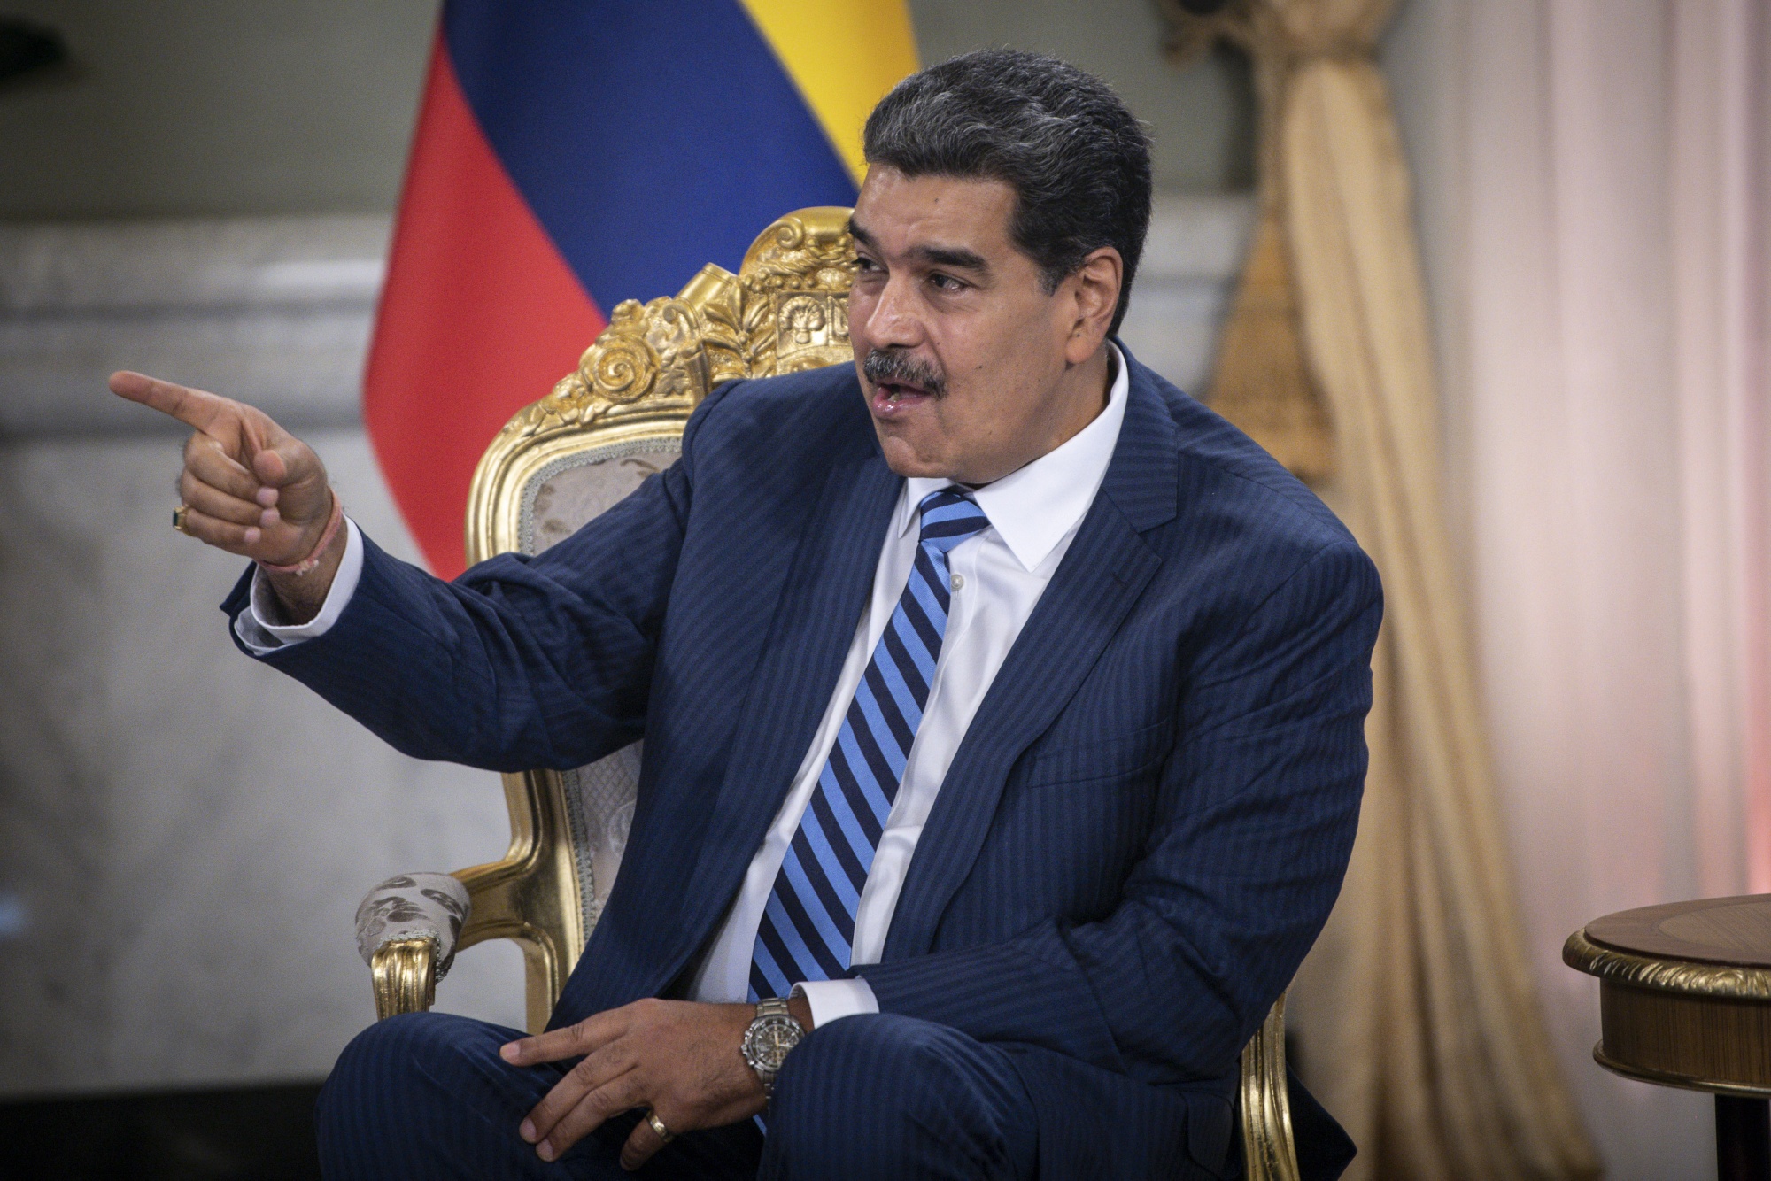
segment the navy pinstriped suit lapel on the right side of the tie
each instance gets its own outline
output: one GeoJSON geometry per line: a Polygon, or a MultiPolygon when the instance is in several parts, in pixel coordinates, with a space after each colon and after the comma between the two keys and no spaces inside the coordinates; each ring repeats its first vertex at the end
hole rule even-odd
{"type": "Polygon", "coordinates": [[[1162,565],[1141,533],[1176,515],[1174,418],[1149,370],[1125,356],[1130,395],[1102,490],[947,768],[893,912],[887,961],[930,951],[1015,760],[1057,719],[1162,565]]]}

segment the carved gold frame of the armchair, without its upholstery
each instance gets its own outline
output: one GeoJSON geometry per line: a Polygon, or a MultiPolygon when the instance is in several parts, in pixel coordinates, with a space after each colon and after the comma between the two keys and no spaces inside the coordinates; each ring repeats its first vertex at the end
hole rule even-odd
{"type": "MultiPolygon", "coordinates": [[[[708,264],[673,297],[625,301],[570,375],[517,413],[480,459],[468,496],[468,560],[533,551],[524,498],[545,471],[592,448],[675,452],[707,393],[740,377],[854,363],[848,209],[786,214],[758,235],[737,274],[708,264]]],[[[595,915],[574,848],[570,784],[561,772],[505,776],[510,848],[460,869],[471,910],[459,947],[515,940],[524,954],[530,1030],[547,1023],[595,915]]],[[[606,889],[606,887],[604,887],[606,889]]],[[[377,1015],[429,1009],[434,944],[384,944],[370,965],[377,1015]]],[[[1284,997],[1241,1055],[1241,1139],[1252,1181],[1295,1181],[1286,1101],[1284,997]]]]}

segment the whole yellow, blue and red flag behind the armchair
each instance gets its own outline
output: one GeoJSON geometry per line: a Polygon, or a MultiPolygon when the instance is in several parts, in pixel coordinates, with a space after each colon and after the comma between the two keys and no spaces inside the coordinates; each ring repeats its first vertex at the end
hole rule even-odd
{"type": "Polygon", "coordinates": [[[363,381],[434,572],[466,565],[482,452],[607,312],[852,205],[861,126],[914,69],[905,0],[445,4],[363,381]]]}

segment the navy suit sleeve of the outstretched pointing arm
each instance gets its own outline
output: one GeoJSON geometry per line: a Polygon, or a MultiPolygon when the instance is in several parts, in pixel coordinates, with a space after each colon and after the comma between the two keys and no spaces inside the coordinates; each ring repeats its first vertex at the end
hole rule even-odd
{"type": "MultiPolygon", "coordinates": [[[[567,768],[634,742],[689,519],[694,441],[726,390],[691,418],[675,464],[538,558],[501,554],[445,583],[365,536],[338,621],[260,659],[416,758],[567,768]]],[[[248,570],[221,606],[230,618],[248,607],[250,583],[248,570]]]]}

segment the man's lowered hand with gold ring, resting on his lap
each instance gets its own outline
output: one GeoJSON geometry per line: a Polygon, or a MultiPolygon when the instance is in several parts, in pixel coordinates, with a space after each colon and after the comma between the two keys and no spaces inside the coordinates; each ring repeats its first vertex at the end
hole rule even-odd
{"type": "MultiPolygon", "coordinates": [[[[739,1050],[754,1016],[749,1004],[636,1000],[512,1041],[499,1054],[514,1066],[584,1057],[517,1131],[542,1160],[558,1160],[604,1121],[636,1107],[650,1108],[671,1135],[749,1119],[767,1107],[762,1080],[739,1050]]],[[[809,1029],[809,1013],[799,1016],[809,1029]]],[[[641,1119],[622,1146],[622,1167],[638,1169],[661,1147],[664,1140],[641,1119]]]]}

